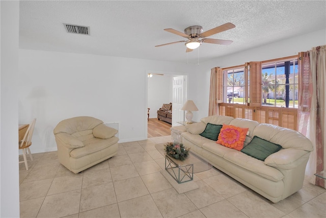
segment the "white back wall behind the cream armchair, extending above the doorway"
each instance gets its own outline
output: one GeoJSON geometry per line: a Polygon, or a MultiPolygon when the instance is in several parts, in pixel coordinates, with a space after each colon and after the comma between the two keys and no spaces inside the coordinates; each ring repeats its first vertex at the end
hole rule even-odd
{"type": "Polygon", "coordinates": [[[146,139],[146,72],[188,74],[189,67],[185,63],[19,50],[19,123],[37,118],[32,153],[57,150],[53,129],[74,116],[119,123],[120,142],[146,139]]]}

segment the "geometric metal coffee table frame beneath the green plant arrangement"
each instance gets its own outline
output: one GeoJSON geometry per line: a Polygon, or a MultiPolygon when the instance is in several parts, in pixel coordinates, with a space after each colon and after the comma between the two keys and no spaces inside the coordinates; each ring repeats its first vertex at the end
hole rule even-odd
{"type": "Polygon", "coordinates": [[[165,156],[165,170],[179,184],[194,179],[194,164],[180,165],[168,155],[165,156]]]}

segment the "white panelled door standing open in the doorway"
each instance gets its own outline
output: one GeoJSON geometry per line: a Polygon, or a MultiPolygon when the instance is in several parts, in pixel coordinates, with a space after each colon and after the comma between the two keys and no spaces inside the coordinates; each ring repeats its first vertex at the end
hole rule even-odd
{"type": "Polygon", "coordinates": [[[173,102],[172,102],[172,126],[179,126],[177,122],[184,120],[184,111],[181,110],[184,104],[184,90],[186,76],[173,78],[173,102]]]}

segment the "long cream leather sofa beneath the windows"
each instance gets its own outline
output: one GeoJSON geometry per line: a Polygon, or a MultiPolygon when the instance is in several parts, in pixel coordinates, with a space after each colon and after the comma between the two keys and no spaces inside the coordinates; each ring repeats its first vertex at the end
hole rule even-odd
{"type": "Polygon", "coordinates": [[[274,203],[287,198],[303,187],[305,169],[313,146],[311,141],[301,133],[229,116],[209,116],[202,118],[199,123],[171,129],[181,134],[185,147],[191,148],[192,152],[214,167],[274,203]],[[258,136],[279,144],[282,149],[269,155],[264,161],[258,160],[200,136],[199,134],[205,130],[208,123],[249,128],[244,146],[254,136],[258,136]]]}

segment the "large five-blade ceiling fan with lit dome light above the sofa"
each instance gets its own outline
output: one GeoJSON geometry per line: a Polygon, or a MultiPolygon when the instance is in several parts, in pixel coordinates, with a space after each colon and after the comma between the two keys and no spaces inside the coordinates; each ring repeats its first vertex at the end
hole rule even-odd
{"type": "Polygon", "coordinates": [[[227,30],[230,30],[232,28],[235,28],[235,26],[232,23],[227,22],[227,23],[224,23],[224,25],[221,25],[219,27],[215,27],[215,28],[210,29],[210,30],[205,31],[205,32],[203,32],[203,28],[201,26],[187,27],[186,29],[184,29],[184,33],[179,32],[179,31],[174,30],[174,29],[164,29],[167,32],[177,34],[179,36],[187,38],[188,40],[186,40],[186,41],[176,41],[176,42],[170,42],[170,43],[166,43],[166,44],[155,45],[155,47],[169,45],[169,44],[175,44],[175,43],[179,43],[179,42],[185,42],[185,46],[187,47],[186,52],[192,52],[194,49],[197,49],[197,47],[199,47],[199,45],[201,45],[201,43],[203,43],[203,42],[204,43],[212,43],[212,44],[229,45],[233,41],[231,41],[231,40],[222,40],[222,39],[209,39],[209,38],[206,38],[206,37],[217,34],[217,33],[221,33],[221,32],[227,31],[227,30]]]}

